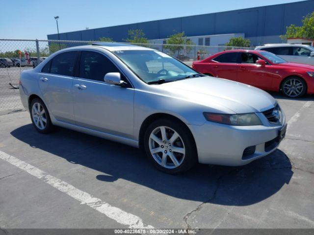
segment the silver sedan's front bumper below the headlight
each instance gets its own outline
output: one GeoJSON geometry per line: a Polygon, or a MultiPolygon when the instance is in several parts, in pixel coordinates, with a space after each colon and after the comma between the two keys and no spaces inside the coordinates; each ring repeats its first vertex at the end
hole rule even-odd
{"type": "Polygon", "coordinates": [[[279,135],[285,135],[282,125],[229,126],[207,121],[201,126],[190,125],[202,164],[238,166],[248,164],[273,152],[278,146],[279,135]],[[244,155],[252,147],[253,152],[244,155]]]}

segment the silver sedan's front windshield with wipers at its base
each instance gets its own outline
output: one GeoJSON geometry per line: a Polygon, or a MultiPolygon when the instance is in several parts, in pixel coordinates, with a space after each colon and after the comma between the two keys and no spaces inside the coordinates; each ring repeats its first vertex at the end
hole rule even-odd
{"type": "Polygon", "coordinates": [[[161,84],[204,76],[171,56],[156,50],[113,51],[133,72],[148,84],[161,84]]]}

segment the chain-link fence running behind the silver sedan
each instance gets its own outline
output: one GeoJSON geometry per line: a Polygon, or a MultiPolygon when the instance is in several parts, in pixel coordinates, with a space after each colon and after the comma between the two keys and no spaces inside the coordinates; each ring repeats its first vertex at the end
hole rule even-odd
{"type": "MultiPolygon", "coordinates": [[[[22,71],[30,70],[63,48],[90,45],[91,41],[0,39],[0,113],[23,109],[18,84],[22,71]]],[[[98,42],[99,43],[99,42],[98,42]]],[[[168,53],[187,65],[223,50],[241,47],[138,44],[168,53]]]]}

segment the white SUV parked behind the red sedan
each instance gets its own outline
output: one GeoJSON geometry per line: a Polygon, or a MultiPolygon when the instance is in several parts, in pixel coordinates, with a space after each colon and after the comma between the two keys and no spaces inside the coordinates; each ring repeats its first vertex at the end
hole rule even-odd
{"type": "Polygon", "coordinates": [[[314,47],[308,45],[266,44],[255,49],[269,51],[288,62],[314,65],[314,47]]]}

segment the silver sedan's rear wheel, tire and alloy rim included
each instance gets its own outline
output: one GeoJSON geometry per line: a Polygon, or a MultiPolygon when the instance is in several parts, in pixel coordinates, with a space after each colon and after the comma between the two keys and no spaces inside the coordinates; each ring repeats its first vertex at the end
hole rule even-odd
{"type": "Polygon", "coordinates": [[[30,108],[30,117],[35,129],[42,134],[50,133],[53,125],[44,102],[35,98],[31,101],[30,108]]]}

